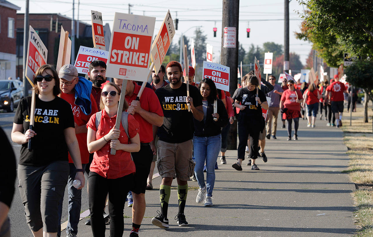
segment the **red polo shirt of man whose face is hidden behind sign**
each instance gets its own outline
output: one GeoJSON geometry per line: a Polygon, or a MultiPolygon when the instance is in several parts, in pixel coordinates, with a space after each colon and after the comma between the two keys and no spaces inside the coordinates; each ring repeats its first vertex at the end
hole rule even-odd
{"type": "MultiPolygon", "coordinates": [[[[126,101],[129,105],[131,105],[132,101],[136,100],[137,94],[140,91],[140,86],[137,85],[135,82],[132,82],[135,85],[134,94],[129,97],[128,95],[125,96],[126,101]]],[[[167,82],[166,82],[167,83],[167,82]]],[[[150,88],[144,88],[144,91],[142,92],[141,98],[140,98],[140,106],[144,110],[150,112],[150,113],[156,113],[159,116],[163,116],[163,110],[161,107],[161,104],[159,103],[159,99],[154,93],[153,90],[150,88]]],[[[153,125],[146,121],[144,118],[141,117],[140,114],[135,113],[134,114],[135,119],[140,124],[141,130],[140,130],[140,142],[141,143],[148,143],[153,141],[153,125]]]]}

